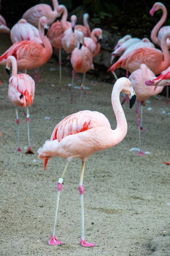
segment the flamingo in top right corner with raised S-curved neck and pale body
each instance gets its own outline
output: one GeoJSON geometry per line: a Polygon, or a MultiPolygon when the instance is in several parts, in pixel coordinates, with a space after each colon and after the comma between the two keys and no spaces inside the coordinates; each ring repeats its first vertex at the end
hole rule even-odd
{"type": "MultiPolygon", "coordinates": [[[[154,3],[152,9],[150,9],[149,13],[151,16],[153,16],[154,13],[159,10],[162,10],[162,17],[159,20],[159,22],[152,29],[150,38],[152,39],[154,44],[157,44],[157,45],[159,45],[159,47],[161,47],[161,41],[162,41],[163,36],[165,34],[167,34],[167,32],[170,33],[170,26],[161,27],[167,18],[167,9],[163,5],[163,3],[156,2],[156,3],[154,3]],[[157,34],[158,34],[158,36],[157,36],[157,34]]],[[[168,49],[170,48],[170,39],[169,38],[167,38],[167,47],[168,47],[168,49]]]]}

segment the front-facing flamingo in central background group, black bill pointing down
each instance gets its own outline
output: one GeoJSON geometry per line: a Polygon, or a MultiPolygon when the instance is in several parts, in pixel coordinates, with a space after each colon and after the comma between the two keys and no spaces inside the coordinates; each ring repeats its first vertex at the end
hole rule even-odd
{"type": "Polygon", "coordinates": [[[81,31],[77,34],[77,47],[71,53],[71,65],[73,67],[72,72],[72,88],[71,88],[71,102],[73,101],[73,85],[74,85],[74,71],[76,73],[83,73],[83,80],[81,85],[81,100],[82,90],[84,89],[85,73],[88,70],[94,69],[93,57],[91,51],[84,47],[84,36],[81,31]]]}

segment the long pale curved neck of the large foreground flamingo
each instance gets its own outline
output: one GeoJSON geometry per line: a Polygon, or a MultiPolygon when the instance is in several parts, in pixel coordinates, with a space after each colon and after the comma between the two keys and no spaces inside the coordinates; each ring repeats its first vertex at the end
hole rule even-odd
{"type": "Polygon", "coordinates": [[[122,84],[119,81],[113,87],[112,95],[111,95],[111,102],[113,106],[113,111],[116,116],[117,126],[113,132],[113,145],[121,142],[125,135],[127,134],[127,121],[125,117],[125,113],[122,109],[122,105],[120,103],[119,95],[122,91],[122,84]]]}

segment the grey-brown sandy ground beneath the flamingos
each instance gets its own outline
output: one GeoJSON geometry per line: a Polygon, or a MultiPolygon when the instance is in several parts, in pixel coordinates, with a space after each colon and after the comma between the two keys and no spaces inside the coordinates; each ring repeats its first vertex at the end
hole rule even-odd
{"type": "MultiPolygon", "coordinates": [[[[8,35],[0,39],[0,53],[10,45],[8,35]]],[[[59,70],[52,60],[40,68],[35,99],[30,108],[30,140],[34,155],[25,154],[28,146],[26,117],[20,108],[20,145],[17,152],[15,108],[8,100],[8,75],[0,67],[0,256],[169,256],[170,255],[170,105],[165,98],[150,98],[144,107],[142,157],[130,148],[139,146],[136,106],[123,105],[128,123],[125,139],[113,148],[96,152],[85,166],[85,238],[99,247],[79,244],[81,216],[79,202],[80,160],[74,160],[65,175],[59,201],[56,236],[65,242],[49,246],[53,228],[57,182],[66,160],[48,161],[44,172],[37,149],[50,139],[56,124],[79,110],[105,114],[116,128],[111,106],[112,84],[87,76],[90,87],[80,103],[80,90],[74,89],[69,102],[71,69],[63,67],[62,87],[59,70]],[[57,70],[50,71],[50,68],[57,70]],[[54,87],[51,86],[54,84],[54,87]],[[152,110],[148,110],[148,108],[152,110]],[[162,111],[165,110],[165,114],[162,111]],[[45,119],[50,116],[50,119],[45,119]]],[[[28,72],[33,75],[33,71],[28,72]]],[[[77,85],[81,80],[76,80],[77,85]]]]}

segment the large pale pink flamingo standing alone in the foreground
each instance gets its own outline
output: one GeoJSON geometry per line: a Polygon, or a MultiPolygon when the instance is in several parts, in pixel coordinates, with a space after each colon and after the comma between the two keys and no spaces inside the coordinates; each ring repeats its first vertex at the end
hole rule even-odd
{"type": "Polygon", "coordinates": [[[82,216],[82,232],[80,243],[82,246],[91,247],[96,244],[85,241],[84,234],[84,207],[83,207],[83,175],[85,162],[88,157],[96,151],[110,148],[120,143],[127,133],[127,122],[125,113],[119,100],[119,94],[124,91],[130,98],[130,108],[135,102],[135,92],[129,79],[123,77],[116,81],[112,90],[111,102],[113,111],[116,116],[117,127],[115,130],[111,129],[108,119],[97,111],[79,111],[62,119],[57,124],[51,135],[51,139],[47,140],[42,148],[38,149],[40,159],[44,159],[44,169],[46,168],[48,159],[50,157],[62,157],[67,159],[65,169],[59,178],[57,185],[57,201],[56,211],[54,217],[54,227],[49,245],[64,244],[58,241],[55,237],[57,211],[59,205],[59,194],[62,189],[62,181],[65,172],[68,169],[69,162],[74,158],[80,158],[82,161],[82,169],[79,183],[79,193],[81,202],[81,216],[82,216]]]}

